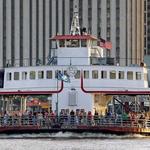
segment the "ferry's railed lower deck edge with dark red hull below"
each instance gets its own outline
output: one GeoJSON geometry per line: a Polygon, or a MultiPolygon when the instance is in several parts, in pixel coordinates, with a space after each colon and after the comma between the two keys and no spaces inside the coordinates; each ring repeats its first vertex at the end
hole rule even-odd
{"type": "Polygon", "coordinates": [[[150,135],[150,119],[130,119],[106,116],[4,116],[0,118],[0,133],[105,133],[105,134],[143,134],[150,135]]]}

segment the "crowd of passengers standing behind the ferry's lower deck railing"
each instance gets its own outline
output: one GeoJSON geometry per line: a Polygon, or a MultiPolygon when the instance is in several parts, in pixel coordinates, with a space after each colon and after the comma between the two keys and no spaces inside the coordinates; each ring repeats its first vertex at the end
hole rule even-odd
{"type": "Polygon", "coordinates": [[[106,112],[100,115],[97,111],[61,111],[59,114],[51,111],[32,112],[1,112],[0,126],[37,125],[40,127],[75,126],[75,125],[140,125],[145,126],[145,120],[150,118],[144,113],[123,113],[121,115],[106,112]]]}

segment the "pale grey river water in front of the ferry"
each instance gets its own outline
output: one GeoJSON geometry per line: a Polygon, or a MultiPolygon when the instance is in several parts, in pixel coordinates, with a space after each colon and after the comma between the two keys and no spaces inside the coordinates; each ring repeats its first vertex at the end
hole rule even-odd
{"type": "Polygon", "coordinates": [[[150,150],[150,137],[88,133],[0,135],[0,150],[150,150]]]}

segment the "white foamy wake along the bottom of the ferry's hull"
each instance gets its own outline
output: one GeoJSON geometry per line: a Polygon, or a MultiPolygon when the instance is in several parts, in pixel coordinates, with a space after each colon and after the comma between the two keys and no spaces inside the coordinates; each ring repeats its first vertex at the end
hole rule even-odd
{"type": "Polygon", "coordinates": [[[72,133],[72,132],[58,132],[58,133],[40,133],[40,134],[1,134],[0,139],[129,139],[129,138],[148,138],[140,134],[128,135],[114,135],[101,133],[72,133]]]}

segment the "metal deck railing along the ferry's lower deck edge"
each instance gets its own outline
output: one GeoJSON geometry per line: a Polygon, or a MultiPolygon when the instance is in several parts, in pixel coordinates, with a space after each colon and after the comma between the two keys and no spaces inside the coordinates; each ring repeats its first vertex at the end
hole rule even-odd
{"type": "Polygon", "coordinates": [[[100,116],[4,116],[0,117],[1,127],[38,126],[39,128],[76,128],[78,126],[138,127],[150,128],[150,119],[124,119],[100,116]]]}

